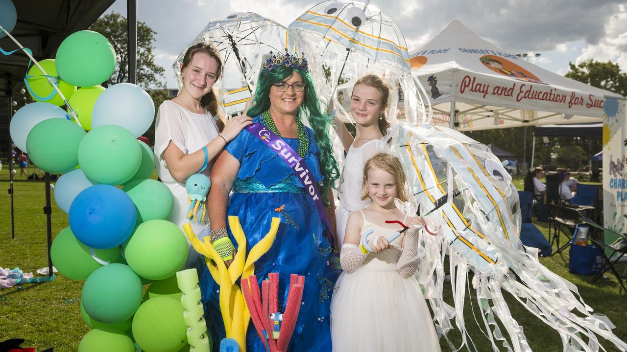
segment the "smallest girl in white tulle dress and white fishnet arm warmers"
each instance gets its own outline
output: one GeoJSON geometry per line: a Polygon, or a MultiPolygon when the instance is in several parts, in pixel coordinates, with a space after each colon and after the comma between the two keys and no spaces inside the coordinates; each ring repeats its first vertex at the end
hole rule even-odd
{"type": "MultiPolygon", "coordinates": [[[[367,209],[349,216],[340,262],[340,274],[331,302],[331,338],[334,351],[440,351],[429,309],[414,272],[418,269],[421,217],[408,218],[394,205],[407,199],[406,177],[398,158],[379,153],[364,167],[362,199],[367,209]],[[387,238],[409,227],[401,237],[387,238]],[[372,252],[359,247],[369,229],[372,252]]],[[[425,228],[429,231],[428,228],[425,228]]]]}

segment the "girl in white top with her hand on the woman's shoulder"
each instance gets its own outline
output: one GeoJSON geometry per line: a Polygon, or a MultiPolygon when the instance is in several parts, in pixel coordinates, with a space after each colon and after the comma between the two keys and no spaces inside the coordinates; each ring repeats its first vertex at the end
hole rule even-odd
{"type": "MultiPolygon", "coordinates": [[[[212,88],[222,71],[222,59],[215,46],[194,44],[183,58],[183,85],[179,95],[164,101],[157,112],[154,146],[157,175],[174,196],[169,220],[179,227],[190,222],[186,217],[189,208],[185,188],[187,177],[198,173],[206,162],[208,166],[203,173],[209,176],[211,161],[242,128],[252,123],[248,116],[237,116],[228,120],[224,130],[218,132],[214,119],[218,114],[218,101],[212,88]],[[206,147],[206,152],[203,147],[206,147]]],[[[204,234],[203,230],[208,229],[208,219],[191,222],[196,234],[204,234]]],[[[199,256],[189,246],[186,267],[192,266],[199,256]]]]}

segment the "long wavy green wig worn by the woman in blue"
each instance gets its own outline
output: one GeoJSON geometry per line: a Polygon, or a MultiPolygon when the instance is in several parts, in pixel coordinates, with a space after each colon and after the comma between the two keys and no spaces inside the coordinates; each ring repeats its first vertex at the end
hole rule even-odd
{"type": "Polygon", "coordinates": [[[314,138],[320,146],[320,169],[324,180],[320,195],[325,205],[329,205],[329,188],[333,187],[335,180],[339,179],[339,168],[333,157],[333,148],[331,147],[331,139],[329,138],[329,116],[322,113],[318,101],[318,96],[314,90],[314,83],[307,72],[298,68],[280,67],[275,70],[263,71],[259,73],[255,96],[253,97],[253,105],[248,109],[248,116],[258,116],[264,111],[270,109],[270,88],[274,83],[288,80],[294,72],[297,72],[305,83],[305,98],[302,105],[298,108],[297,119],[302,120],[303,114],[307,116],[309,124],[314,130],[314,138]]]}

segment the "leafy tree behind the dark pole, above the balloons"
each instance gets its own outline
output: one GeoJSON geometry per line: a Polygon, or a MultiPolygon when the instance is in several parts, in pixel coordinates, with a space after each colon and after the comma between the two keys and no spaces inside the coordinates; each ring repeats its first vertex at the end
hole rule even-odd
{"type": "MultiPolygon", "coordinates": [[[[117,66],[113,75],[102,86],[115,85],[129,80],[129,45],[127,19],[119,13],[105,14],[98,18],[90,30],[105,36],[117,54],[117,66]]],[[[154,62],[152,43],[157,32],[145,22],[137,22],[137,85],[144,89],[166,88],[164,68],[154,62]]]]}

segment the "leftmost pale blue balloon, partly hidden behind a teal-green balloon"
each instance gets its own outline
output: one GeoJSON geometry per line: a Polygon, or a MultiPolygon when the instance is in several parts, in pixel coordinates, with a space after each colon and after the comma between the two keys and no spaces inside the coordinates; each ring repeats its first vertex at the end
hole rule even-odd
{"type": "Polygon", "coordinates": [[[65,110],[51,103],[39,102],[24,105],[13,115],[9,124],[9,133],[11,133],[11,139],[19,150],[28,153],[26,150],[28,133],[31,132],[34,125],[49,118],[68,118],[68,114],[65,110]]]}

